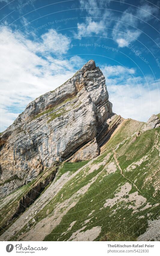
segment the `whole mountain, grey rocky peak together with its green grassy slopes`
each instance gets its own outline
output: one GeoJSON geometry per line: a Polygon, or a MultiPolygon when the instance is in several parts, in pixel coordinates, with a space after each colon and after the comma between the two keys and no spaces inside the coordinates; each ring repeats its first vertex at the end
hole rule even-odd
{"type": "Polygon", "coordinates": [[[114,114],[105,78],[93,60],[62,87],[58,99],[68,98],[53,106],[52,92],[48,100],[38,97],[27,105],[29,113],[22,113],[23,131],[18,117],[2,133],[0,239],[157,241],[159,115],[144,123],[114,114]],[[68,92],[77,94],[70,98],[68,92]],[[62,127],[67,129],[59,137],[52,134],[62,127]],[[48,137],[59,143],[50,144],[48,137]],[[148,234],[152,223],[154,232],[148,234]]]}

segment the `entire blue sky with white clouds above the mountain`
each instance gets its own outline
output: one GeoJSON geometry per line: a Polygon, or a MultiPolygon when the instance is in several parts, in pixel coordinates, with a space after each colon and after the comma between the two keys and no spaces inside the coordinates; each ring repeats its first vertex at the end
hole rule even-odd
{"type": "Polygon", "coordinates": [[[0,131],[89,59],[106,78],[113,112],[160,112],[160,1],[0,0],[0,131]]]}

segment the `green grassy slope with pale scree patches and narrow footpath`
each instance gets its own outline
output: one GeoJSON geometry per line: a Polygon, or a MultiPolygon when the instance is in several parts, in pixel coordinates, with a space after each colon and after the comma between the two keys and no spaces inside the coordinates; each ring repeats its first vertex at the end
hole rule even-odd
{"type": "Polygon", "coordinates": [[[30,233],[43,232],[44,227],[45,241],[83,240],[89,231],[93,236],[86,235],[88,240],[137,240],[159,210],[160,128],[141,133],[142,126],[127,119],[100,156],[80,166],[64,163],[56,179],[66,171],[75,175],[35,215],[35,223],[11,240],[28,240],[30,233]],[[56,222],[53,229],[46,227],[49,221],[56,222]]]}

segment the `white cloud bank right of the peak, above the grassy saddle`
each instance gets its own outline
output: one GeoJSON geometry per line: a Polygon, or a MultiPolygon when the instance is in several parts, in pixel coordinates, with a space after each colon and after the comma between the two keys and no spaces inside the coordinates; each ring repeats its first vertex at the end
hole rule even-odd
{"type": "Polygon", "coordinates": [[[160,112],[160,79],[139,77],[134,69],[121,66],[106,66],[102,71],[113,112],[143,122],[160,112]]]}

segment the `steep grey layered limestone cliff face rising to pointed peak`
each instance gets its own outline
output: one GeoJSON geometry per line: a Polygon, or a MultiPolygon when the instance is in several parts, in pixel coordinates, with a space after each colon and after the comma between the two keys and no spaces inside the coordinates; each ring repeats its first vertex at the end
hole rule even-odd
{"type": "Polygon", "coordinates": [[[56,90],[29,103],[1,134],[0,196],[32,181],[54,161],[97,156],[97,138],[103,141],[101,131],[111,115],[105,78],[90,60],[56,90]]]}

